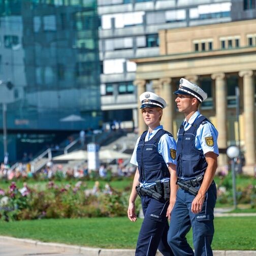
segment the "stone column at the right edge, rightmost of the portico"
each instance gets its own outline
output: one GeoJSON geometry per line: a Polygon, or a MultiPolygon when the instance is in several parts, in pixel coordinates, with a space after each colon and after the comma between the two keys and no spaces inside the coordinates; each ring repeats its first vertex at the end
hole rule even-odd
{"type": "Polygon", "coordinates": [[[255,132],[254,132],[254,83],[251,70],[239,72],[243,78],[244,102],[244,132],[245,132],[245,163],[246,166],[255,165],[255,132]]]}

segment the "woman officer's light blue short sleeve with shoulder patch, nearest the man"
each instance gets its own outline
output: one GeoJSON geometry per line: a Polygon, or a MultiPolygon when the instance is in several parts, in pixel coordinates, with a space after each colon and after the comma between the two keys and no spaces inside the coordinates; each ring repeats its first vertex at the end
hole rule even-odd
{"type": "Polygon", "coordinates": [[[164,134],[158,143],[158,152],[162,154],[165,163],[176,165],[176,141],[168,134],[164,134]]]}

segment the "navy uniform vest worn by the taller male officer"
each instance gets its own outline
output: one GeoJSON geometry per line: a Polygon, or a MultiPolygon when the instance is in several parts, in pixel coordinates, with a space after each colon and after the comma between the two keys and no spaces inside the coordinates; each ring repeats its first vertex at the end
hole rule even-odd
{"type": "Polygon", "coordinates": [[[180,178],[195,178],[204,174],[207,168],[203,150],[195,146],[198,127],[206,121],[205,116],[198,117],[187,131],[184,130],[183,123],[180,126],[177,141],[177,175],[180,178]]]}

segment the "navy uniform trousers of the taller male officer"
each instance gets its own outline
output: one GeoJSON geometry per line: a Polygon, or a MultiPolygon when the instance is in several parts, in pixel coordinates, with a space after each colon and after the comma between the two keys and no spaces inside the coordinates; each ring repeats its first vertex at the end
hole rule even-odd
{"type": "MultiPolygon", "coordinates": [[[[199,188],[199,186],[197,187],[199,188]]],[[[171,213],[168,243],[175,256],[212,256],[211,242],[214,234],[213,209],[216,203],[216,185],[210,185],[205,195],[202,211],[191,212],[195,196],[179,188],[174,208],[171,213]],[[193,229],[193,249],[186,240],[186,234],[193,229]]]]}

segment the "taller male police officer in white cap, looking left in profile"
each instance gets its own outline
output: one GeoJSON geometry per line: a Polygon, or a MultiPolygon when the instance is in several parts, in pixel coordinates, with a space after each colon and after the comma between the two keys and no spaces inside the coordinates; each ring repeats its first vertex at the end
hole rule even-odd
{"type": "Polygon", "coordinates": [[[168,243],[177,256],[194,255],[185,238],[192,227],[195,255],[210,256],[216,203],[213,177],[217,168],[218,132],[198,111],[200,103],[207,98],[207,93],[199,86],[181,78],[174,94],[177,94],[175,102],[185,120],[177,137],[177,183],[180,188],[171,214],[168,243]],[[195,190],[198,191],[196,194],[195,190]]]}

